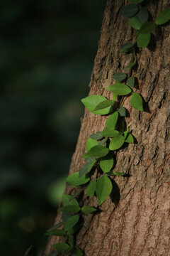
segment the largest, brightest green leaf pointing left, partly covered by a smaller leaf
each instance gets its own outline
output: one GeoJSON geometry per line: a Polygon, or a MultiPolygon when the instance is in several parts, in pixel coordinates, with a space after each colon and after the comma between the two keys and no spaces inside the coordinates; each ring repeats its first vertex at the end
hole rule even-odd
{"type": "Polygon", "coordinates": [[[96,106],[103,101],[106,101],[106,97],[103,97],[101,95],[90,95],[88,97],[85,97],[84,99],[81,99],[81,102],[83,102],[84,106],[90,112],[94,114],[108,114],[111,112],[112,107],[106,107],[103,110],[95,111],[96,106]]]}

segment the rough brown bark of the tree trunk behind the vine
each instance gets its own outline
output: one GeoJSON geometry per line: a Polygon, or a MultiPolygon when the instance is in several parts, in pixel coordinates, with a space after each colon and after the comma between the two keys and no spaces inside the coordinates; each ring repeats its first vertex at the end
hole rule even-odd
{"type": "MultiPolygon", "coordinates": [[[[146,2],[153,20],[159,11],[169,7],[169,0],[146,2]]],[[[131,62],[131,55],[120,53],[121,44],[135,41],[128,18],[120,16],[125,4],[126,1],[107,1],[89,95],[104,95],[110,99],[111,92],[106,87],[113,83],[112,75],[125,71],[125,66],[131,62]]],[[[130,112],[130,117],[126,117],[127,126],[137,144],[129,144],[118,151],[114,170],[130,176],[115,177],[113,202],[108,198],[100,206],[101,213],[85,216],[77,245],[86,256],[170,255],[169,32],[169,23],[157,26],[149,47],[138,50],[136,76],[145,111],[132,109],[130,100],[126,100],[124,106],[130,112]]],[[[81,156],[86,139],[89,134],[103,129],[106,118],[85,110],[69,174],[79,171],[84,164],[81,156]]],[[[67,188],[65,193],[70,192],[74,192],[73,188],[67,188]]],[[[86,195],[81,201],[98,206],[96,198],[86,195]]],[[[60,215],[57,215],[58,222],[60,215]]],[[[50,238],[45,256],[59,240],[61,238],[50,238]]]]}

